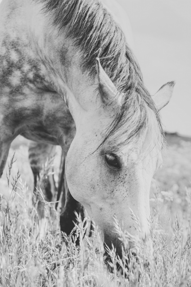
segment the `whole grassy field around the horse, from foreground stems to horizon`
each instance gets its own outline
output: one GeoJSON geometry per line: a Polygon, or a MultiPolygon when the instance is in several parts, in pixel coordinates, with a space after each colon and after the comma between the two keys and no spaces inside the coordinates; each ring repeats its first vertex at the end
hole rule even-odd
{"type": "MultiPolygon", "coordinates": [[[[11,145],[0,180],[0,286],[191,286],[191,141],[176,134],[166,137],[168,155],[151,184],[153,252],[116,222],[116,232],[124,245],[128,247],[128,241],[136,241],[140,256],[136,261],[124,251],[124,261],[120,261],[111,251],[113,273],[103,261],[99,229],[94,227],[91,238],[84,236],[85,229],[78,218],[80,248],[71,238],[65,244],[61,240],[59,214],[53,207],[50,211],[46,202],[47,230],[39,238],[36,205],[32,206],[28,141],[18,137],[11,145]],[[131,260],[126,268],[128,258],[131,260]],[[121,266],[123,272],[117,271],[116,266],[121,266]]],[[[58,148],[56,173],[60,152],[58,148]]],[[[43,195],[41,200],[44,201],[43,195]]]]}

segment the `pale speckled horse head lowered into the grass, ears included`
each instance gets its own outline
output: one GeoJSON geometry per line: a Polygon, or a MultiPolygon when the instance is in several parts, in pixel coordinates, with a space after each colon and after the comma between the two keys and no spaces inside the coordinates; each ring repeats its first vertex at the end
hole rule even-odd
{"type": "MultiPolygon", "coordinates": [[[[113,243],[121,256],[113,217],[123,222],[130,234],[150,240],[149,191],[162,164],[165,142],[159,119],[150,107],[143,105],[142,95],[135,91],[125,102],[99,59],[95,81],[96,108],[81,109],[76,136],[67,154],[66,177],[72,196],[101,228],[105,244],[111,248],[113,243]],[[124,116],[126,122],[119,121],[121,110],[128,104],[132,106],[126,111],[129,115],[124,116]],[[140,127],[144,113],[147,115],[140,127]],[[114,117],[118,120],[116,127],[114,117]],[[139,218],[141,233],[131,210],[139,218]]],[[[169,102],[174,84],[169,82],[150,96],[157,112],[169,102]]],[[[130,249],[134,250],[131,244],[130,249]]]]}

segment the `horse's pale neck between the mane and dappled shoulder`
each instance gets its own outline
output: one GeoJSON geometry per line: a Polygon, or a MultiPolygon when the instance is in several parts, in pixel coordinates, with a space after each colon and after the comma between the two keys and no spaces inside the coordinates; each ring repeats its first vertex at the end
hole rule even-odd
{"type": "Polygon", "coordinates": [[[40,1],[3,0],[1,7],[0,30],[5,37],[11,38],[10,41],[17,41],[22,59],[39,63],[36,77],[45,79],[41,90],[47,86],[56,91],[69,107],[75,122],[83,110],[95,109],[97,85],[92,85],[89,77],[82,73],[80,53],[72,41],[66,39],[65,33],[59,33],[53,26],[53,15],[42,12],[40,1]]]}

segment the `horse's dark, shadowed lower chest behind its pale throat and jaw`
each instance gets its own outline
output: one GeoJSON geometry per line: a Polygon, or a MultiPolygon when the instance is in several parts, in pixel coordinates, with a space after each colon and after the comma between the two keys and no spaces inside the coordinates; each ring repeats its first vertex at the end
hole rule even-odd
{"type": "Polygon", "coordinates": [[[54,92],[6,96],[0,100],[1,123],[13,137],[67,146],[75,136],[75,123],[66,104],[54,92]]]}

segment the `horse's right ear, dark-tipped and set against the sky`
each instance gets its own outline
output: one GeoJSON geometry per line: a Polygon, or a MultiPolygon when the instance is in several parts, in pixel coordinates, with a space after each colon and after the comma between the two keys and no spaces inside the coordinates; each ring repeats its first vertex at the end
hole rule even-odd
{"type": "Polygon", "coordinates": [[[158,110],[161,110],[164,106],[168,104],[172,96],[174,85],[174,81],[168,82],[164,84],[154,96],[152,96],[158,110]]]}

